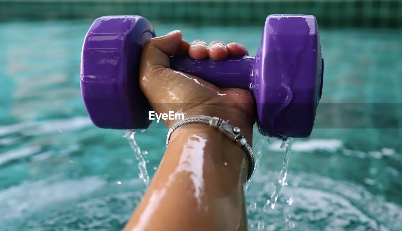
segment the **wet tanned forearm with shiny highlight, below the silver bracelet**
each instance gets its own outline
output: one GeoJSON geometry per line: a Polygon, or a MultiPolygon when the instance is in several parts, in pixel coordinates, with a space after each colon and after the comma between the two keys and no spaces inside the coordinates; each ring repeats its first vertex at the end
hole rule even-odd
{"type": "MultiPolygon", "coordinates": [[[[242,124],[248,140],[251,125],[242,124]]],[[[182,126],[125,230],[246,230],[247,166],[244,150],[218,130],[182,126]]]]}

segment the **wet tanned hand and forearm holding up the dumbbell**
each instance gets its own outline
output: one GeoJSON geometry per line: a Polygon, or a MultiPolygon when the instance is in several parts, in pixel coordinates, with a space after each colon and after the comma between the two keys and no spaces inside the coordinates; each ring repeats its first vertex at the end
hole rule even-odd
{"type": "MultiPolygon", "coordinates": [[[[230,120],[251,144],[255,111],[250,92],[221,89],[168,68],[169,56],[177,53],[188,53],[194,59],[224,59],[246,55],[246,48],[221,41],[190,44],[180,31],[173,31],[145,44],[139,83],[156,113],[180,111],[185,116],[230,120]]],[[[174,122],[164,121],[168,128],[174,122]]],[[[221,132],[207,124],[180,127],[172,134],[149,188],[124,230],[246,230],[246,168],[244,150],[221,132]]]]}

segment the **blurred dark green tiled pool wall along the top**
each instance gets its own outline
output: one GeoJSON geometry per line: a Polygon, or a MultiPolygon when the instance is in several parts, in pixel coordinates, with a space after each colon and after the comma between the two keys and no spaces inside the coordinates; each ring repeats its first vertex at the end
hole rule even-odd
{"type": "Polygon", "coordinates": [[[141,15],[151,22],[251,26],[278,13],[312,14],[320,28],[402,28],[402,0],[0,0],[2,21],[141,15]]]}

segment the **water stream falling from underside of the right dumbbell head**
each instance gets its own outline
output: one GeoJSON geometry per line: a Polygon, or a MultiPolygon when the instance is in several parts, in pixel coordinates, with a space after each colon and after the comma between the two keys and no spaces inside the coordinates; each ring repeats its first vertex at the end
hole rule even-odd
{"type": "Polygon", "coordinates": [[[287,140],[283,141],[281,144],[281,148],[286,148],[285,156],[283,157],[283,162],[282,162],[282,169],[279,172],[277,182],[275,182],[275,190],[272,193],[271,198],[269,200],[267,200],[267,203],[264,205],[264,208],[263,208],[264,213],[268,213],[269,208],[275,209],[275,203],[278,200],[279,192],[281,192],[281,188],[283,186],[287,185],[287,182],[286,182],[287,167],[289,165],[289,156],[292,151],[292,144],[293,144],[293,138],[288,138],[287,140]]]}

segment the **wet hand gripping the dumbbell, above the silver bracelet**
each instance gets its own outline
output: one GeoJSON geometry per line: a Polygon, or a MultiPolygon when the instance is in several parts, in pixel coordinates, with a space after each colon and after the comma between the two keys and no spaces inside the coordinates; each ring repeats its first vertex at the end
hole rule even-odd
{"type": "MultiPolygon", "coordinates": [[[[139,83],[155,112],[181,112],[185,117],[217,116],[239,128],[252,128],[255,107],[250,91],[219,88],[199,77],[169,68],[169,56],[186,53],[193,59],[219,60],[228,55],[246,55],[247,50],[241,44],[225,45],[220,41],[208,46],[204,41],[196,40],[190,45],[178,30],[148,40],[139,65],[139,83]]],[[[170,128],[176,121],[163,122],[170,128]]]]}

